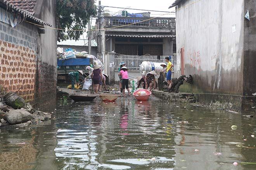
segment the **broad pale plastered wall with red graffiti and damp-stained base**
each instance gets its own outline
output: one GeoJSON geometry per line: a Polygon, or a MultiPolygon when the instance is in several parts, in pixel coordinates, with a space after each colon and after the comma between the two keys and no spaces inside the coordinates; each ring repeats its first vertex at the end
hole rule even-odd
{"type": "MultiPolygon", "coordinates": [[[[177,8],[194,0],[185,0],[177,8]]],[[[244,0],[205,0],[176,11],[177,65],[185,49],[185,74],[194,77],[190,92],[243,93],[244,0]],[[233,30],[232,30],[233,28],[233,30]]]]}

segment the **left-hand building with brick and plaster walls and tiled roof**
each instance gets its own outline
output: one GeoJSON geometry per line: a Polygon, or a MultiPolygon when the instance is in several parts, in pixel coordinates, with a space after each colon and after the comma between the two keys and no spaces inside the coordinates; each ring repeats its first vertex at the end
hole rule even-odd
{"type": "Polygon", "coordinates": [[[0,85],[35,104],[56,95],[55,13],[55,0],[0,1],[0,85]]]}

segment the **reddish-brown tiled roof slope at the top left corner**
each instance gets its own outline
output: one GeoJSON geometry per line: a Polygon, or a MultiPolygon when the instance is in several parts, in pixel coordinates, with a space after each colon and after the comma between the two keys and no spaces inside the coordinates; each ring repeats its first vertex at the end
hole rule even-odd
{"type": "Polygon", "coordinates": [[[13,6],[34,13],[34,7],[37,0],[7,0],[13,6]]]}

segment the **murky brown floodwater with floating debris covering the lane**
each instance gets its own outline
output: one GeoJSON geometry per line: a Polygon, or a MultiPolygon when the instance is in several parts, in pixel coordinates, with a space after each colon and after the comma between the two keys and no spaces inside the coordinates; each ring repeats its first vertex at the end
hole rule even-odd
{"type": "Polygon", "coordinates": [[[241,164],[256,162],[254,117],[155,97],[116,103],[62,98],[50,112],[53,119],[44,125],[0,131],[1,170],[256,169],[241,164]]]}

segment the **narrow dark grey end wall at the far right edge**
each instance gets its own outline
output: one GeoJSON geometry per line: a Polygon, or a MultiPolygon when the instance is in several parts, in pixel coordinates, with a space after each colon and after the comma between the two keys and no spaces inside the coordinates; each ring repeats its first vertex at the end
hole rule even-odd
{"type": "Polygon", "coordinates": [[[250,21],[244,20],[244,95],[256,93],[256,1],[246,0],[244,14],[249,10],[250,21]]]}

